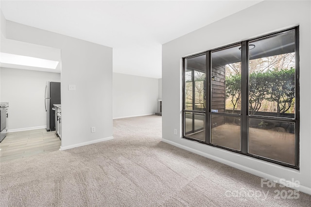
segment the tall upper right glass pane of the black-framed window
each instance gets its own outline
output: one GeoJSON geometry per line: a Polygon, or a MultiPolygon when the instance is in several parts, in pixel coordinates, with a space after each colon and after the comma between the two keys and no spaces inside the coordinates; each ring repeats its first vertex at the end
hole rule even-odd
{"type": "Polygon", "coordinates": [[[295,32],[249,43],[249,114],[295,117],[295,32]]]}

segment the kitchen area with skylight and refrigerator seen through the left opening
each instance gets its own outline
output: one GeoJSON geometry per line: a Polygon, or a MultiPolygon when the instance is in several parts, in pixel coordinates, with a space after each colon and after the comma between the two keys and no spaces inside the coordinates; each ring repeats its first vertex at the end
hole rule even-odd
{"type": "Polygon", "coordinates": [[[60,149],[60,54],[58,48],[1,39],[0,162],[60,149]]]}

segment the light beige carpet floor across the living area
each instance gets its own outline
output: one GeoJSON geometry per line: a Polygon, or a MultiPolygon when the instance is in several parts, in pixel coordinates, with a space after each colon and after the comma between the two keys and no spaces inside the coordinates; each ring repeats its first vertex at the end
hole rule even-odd
{"type": "Polygon", "coordinates": [[[1,163],[0,206],[311,205],[310,195],[276,198],[275,191],[292,190],[260,187],[255,175],[161,142],[160,116],[114,120],[114,138],[1,163]]]}

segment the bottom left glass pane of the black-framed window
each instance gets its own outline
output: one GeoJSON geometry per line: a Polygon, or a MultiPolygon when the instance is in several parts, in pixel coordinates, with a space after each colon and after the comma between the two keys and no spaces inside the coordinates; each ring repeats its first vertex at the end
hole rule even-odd
{"type": "Polygon", "coordinates": [[[185,136],[205,141],[205,114],[185,112],[185,136]]]}

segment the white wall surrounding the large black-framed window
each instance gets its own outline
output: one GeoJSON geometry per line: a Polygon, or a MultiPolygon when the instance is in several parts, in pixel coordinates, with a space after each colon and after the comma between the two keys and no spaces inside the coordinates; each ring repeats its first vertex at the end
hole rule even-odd
{"type": "Polygon", "coordinates": [[[262,1],[162,46],[163,141],[272,180],[298,180],[311,194],[310,1],[262,1]],[[300,26],[300,171],[182,139],[182,57],[300,26]],[[178,135],[174,135],[174,128],[178,135]]]}

